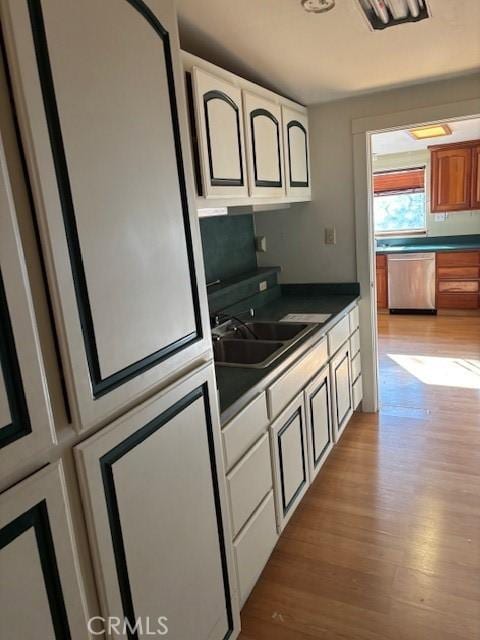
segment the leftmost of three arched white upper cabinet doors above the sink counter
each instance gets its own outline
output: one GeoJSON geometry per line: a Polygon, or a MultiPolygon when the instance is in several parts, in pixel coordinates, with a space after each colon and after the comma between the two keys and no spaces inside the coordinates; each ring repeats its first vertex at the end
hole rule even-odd
{"type": "Polygon", "coordinates": [[[248,196],[242,92],[194,67],[195,120],[206,198],[248,196]]]}

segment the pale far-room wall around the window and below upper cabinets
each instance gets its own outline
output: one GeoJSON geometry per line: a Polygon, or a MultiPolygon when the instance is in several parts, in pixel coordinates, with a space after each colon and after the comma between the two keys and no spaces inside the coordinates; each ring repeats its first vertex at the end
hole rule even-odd
{"type": "Polygon", "coordinates": [[[480,211],[455,211],[447,214],[446,219],[441,222],[436,219],[435,214],[430,213],[430,189],[428,188],[430,184],[430,152],[428,149],[376,156],[372,162],[373,171],[409,169],[422,165],[426,167],[427,236],[480,234],[480,211]]]}

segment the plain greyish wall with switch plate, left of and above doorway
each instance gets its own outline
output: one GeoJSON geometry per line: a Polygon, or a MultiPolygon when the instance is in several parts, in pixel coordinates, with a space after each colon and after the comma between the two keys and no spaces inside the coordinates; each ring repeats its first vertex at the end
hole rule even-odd
{"type": "Polygon", "coordinates": [[[281,265],[282,282],[356,280],[352,120],[478,97],[475,74],[309,108],[313,200],[255,215],[256,231],[268,242],[260,265],[281,265]],[[324,244],[330,225],[337,230],[334,246],[324,244]]]}

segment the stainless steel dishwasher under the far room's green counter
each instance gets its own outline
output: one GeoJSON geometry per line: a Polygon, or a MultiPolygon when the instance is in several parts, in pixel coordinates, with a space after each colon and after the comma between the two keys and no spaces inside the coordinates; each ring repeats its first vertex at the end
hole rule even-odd
{"type": "Polygon", "coordinates": [[[388,308],[435,312],[435,254],[389,254],[388,308]]]}

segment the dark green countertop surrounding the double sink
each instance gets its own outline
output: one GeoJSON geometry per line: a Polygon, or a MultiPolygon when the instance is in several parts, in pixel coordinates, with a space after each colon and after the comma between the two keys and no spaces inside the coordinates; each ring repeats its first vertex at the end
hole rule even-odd
{"type": "Polygon", "coordinates": [[[338,316],[349,310],[357,300],[357,295],[283,295],[259,308],[255,313],[256,320],[276,321],[287,313],[331,313],[332,317],[327,322],[318,324],[316,331],[295,342],[264,369],[216,365],[222,425],[318,342],[336,324],[338,316]]]}

